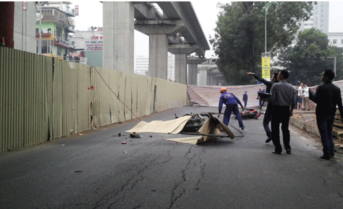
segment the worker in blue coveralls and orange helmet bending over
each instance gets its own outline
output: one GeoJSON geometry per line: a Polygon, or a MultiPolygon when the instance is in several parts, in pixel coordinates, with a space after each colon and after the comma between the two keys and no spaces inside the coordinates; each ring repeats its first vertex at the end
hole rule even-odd
{"type": "Polygon", "coordinates": [[[244,130],[246,126],[244,126],[243,121],[241,120],[241,115],[239,114],[239,109],[238,109],[238,104],[241,105],[241,109],[244,109],[243,105],[241,104],[241,101],[239,101],[239,99],[232,93],[228,93],[226,87],[222,87],[220,89],[220,94],[222,95],[220,96],[220,100],[219,100],[217,117],[220,118],[223,104],[225,104],[226,108],[224,111],[224,118],[223,118],[224,124],[228,126],[228,123],[230,122],[231,113],[233,112],[238,119],[239,127],[241,127],[241,130],[244,130]]]}

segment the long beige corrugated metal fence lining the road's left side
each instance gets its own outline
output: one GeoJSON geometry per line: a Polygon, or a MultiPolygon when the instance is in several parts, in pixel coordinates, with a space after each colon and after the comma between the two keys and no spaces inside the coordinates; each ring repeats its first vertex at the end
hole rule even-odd
{"type": "Polygon", "coordinates": [[[0,98],[0,152],[188,103],[180,83],[5,47],[0,98]]]}

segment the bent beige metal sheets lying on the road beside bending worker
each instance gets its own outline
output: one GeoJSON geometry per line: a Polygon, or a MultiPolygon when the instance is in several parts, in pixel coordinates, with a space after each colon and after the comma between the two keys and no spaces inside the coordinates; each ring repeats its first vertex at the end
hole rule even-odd
{"type": "MultiPolygon", "coordinates": [[[[191,116],[186,115],[183,117],[179,117],[175,120],[169,120],[169,121],[161,121],[161,120],[155,120],[150,123],[147,122],[139,122],[134,128],[130,130],[126,130],[126,132],[129,133],[171,133],[171,134],[177,134],[180,133],[182,128],[185,126],[187,121],[191,118],[191,116]]],[[[231,139],[235,138],[235,135],[231,132],[230,128],[226,126],[222,121],[218,120],[215,117],[210,117],[209,120],[206,120],[204,125],[198,130],[198,133],[194,133],[195,135],[200,136],[194,136],[194,137],[182,137],[182,138],[176,138],[176,139],[166,139],[169,141],[177,141],[182,143],[191,143],[191,144],[197,144],[204,141],[209,141],[211,139],[215,139],[216,137],[220,137],[221,130],[223,130],[228,137],[231,139]],[[206,136],[211,135],[211,136],[206,136]],[[213,136],[215,135],[215,136],[213,136]]]]}

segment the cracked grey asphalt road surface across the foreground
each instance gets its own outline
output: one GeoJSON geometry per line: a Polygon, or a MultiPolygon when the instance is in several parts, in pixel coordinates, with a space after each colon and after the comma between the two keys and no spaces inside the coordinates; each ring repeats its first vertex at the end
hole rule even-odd
{"type": "MultiPolygon", "coordinates": [[[[182,107],[142,119],[210,111],[217,109],[182,107]]],[[[0,154],[0,208],[343,208],[342,165],[320,159],[318,143],[295,129],[292,154],[276,155],[262,118],[244,120],[244,137],[200,145],[165,140],[186,135],[130,138],[125,130],[137,123],[0,154]]]]}

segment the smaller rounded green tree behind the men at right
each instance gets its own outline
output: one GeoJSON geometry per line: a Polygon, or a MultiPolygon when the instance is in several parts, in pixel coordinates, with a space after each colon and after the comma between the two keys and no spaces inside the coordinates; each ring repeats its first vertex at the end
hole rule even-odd
{"type": "Polygon", "coordinates": [[[281,48],[278,56],[278,64],[291,72],[289,83],[320,84],[322,71],[333,70],[334,59],[324,57],[336,57],[336,80],[342,79],[342,49],[329,46],[327,34],[311,28],[300,31],[297,37],[296,45],[281,48]]]}

